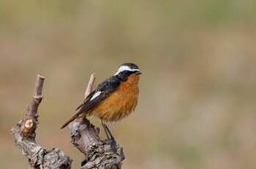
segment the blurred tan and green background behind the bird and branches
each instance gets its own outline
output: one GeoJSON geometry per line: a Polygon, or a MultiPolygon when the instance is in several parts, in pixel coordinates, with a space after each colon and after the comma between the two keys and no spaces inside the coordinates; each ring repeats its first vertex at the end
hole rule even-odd
{"type": "Polygon", "coordinates": [[[38,73],[46,77],[38,142],[79,168],[83,156],[60,125],[90,73],[98,83],[135,62],[138,107],[110,124],[123,168],[255,168],[255,44],[254,0],[0,0],[0,166],[28,168],[9,131],[38,73]]]}

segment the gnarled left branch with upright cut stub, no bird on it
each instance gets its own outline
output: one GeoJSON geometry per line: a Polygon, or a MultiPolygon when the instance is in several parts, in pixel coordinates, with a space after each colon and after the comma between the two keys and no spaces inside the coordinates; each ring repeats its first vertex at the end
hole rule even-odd
{"type": "Polygon", "coordinates": [[[29,105],[25,119],[18,122],[17,127],[11,129],[15,138],[15,145],[21,149],[32,168],[71,168],[72,159],[60,151],[58,148],[47,150],[38,145],[35,141],[35,129],[38,125],[38,106],[43,99],[44,77],[38,75],[35,82],[35,92],[32,102],[29,105]]]}

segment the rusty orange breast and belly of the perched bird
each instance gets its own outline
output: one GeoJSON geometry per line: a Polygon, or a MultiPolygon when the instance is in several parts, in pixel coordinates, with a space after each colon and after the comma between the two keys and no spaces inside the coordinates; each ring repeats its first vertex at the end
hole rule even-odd
{"type": "Polygon", "coordinates": [[[138,103],[139,76],[132,74],[126,82],[99,103],[91,112],[103,121],[119,121],[132,112],[138,103]]]}

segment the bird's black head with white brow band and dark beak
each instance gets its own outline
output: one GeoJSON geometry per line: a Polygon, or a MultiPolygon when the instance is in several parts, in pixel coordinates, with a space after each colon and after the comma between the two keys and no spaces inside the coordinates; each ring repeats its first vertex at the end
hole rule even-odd
{"type": "Polygon", "coordinates": [[[115,73],[115,76],[125,81],[132,74],[140,75],[141,71],[138,68],[138,65],[132,62],[128,62],[119,65],[118,71],[115,73]]]}

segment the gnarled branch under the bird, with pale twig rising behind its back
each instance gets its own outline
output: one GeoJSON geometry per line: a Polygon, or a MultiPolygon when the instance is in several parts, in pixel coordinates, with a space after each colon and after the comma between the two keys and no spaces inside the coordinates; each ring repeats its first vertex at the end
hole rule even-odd
{"type": "MultiPolygon", "coordinates": [[[[85,90],[85,98],[93,90],[95,82],[94,74],[90,75],[88,86],[85,90]]],[[[93,126],[84,115],[80,115],[71,123],[71,143],[76,146],[82,154],[85,154],[85,160],[82,162],[82,169],[94,168],[116,168],[121,169],[124,160],[123,148],[115,144],[111,147],[108,140],[99,138],[99,128],[93,126]]]]}

